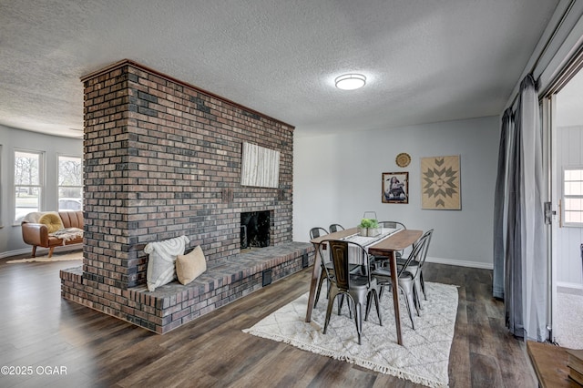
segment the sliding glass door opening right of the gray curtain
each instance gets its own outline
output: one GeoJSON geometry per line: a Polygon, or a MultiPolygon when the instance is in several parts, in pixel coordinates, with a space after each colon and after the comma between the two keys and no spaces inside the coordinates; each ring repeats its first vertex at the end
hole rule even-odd
{"type": "MultiPolygon", "coordinates": [[[[551,117],[552,338],[583,348],[583,71],[543,103],[551,117]]],[[[547,121],[548,122],[548,121],[547,121]]]]}

